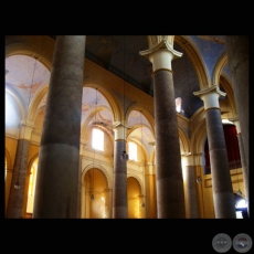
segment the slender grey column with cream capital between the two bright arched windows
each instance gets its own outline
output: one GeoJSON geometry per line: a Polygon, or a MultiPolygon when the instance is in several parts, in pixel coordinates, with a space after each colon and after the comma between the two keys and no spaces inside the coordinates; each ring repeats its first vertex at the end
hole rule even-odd
{"type": "Polygon", "coordinates": [[[114,146],[114,188],[113,188],[113,218],[128,218],[128,199],[127,199],[127,161],[121,159],[126,151],[126,131],[128,128],[120,123],[114,124],[115,146],[114,146]]]}

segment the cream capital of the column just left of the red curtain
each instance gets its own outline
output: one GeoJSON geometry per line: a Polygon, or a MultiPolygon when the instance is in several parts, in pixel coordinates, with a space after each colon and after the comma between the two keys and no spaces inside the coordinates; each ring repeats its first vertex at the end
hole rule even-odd
{"type": "Polygon", "coordinates": [[[225,96],[226,93],[220,91],[218,85],[213,85],[211,87],[193,92],[195,96],[199,96],[204,103],[204,109],[208,108],[220,108],[219,97],[225,96]]]}

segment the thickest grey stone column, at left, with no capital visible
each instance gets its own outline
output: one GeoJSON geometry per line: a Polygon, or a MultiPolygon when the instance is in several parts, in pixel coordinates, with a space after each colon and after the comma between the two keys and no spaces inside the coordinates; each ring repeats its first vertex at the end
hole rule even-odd
{"type": "Polygon", "coordinates": [[[39,154],[34,219],[75,219],[85,35],[57,35],[39,154]]]}

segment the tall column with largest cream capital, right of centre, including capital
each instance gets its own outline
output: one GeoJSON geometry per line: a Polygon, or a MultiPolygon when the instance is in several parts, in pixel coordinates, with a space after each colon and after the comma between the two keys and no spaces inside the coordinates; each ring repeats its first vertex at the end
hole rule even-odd
{"type": "Polygon", "coordinates": [[[159,219],[186,218],[179,130],[171,61],[182,53],[173,50],[173,36],[151,36],[149,50],[140,52],[152,63],[157,213],[159,219]]]}

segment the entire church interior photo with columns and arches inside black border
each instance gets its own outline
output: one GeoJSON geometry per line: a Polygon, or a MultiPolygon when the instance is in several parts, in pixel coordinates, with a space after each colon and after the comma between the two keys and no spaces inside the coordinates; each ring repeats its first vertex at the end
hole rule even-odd
{"type": "Polygon", "coordinates": [[[6,219],[250,218],[247,36],[6,35],[4,68],[6,219]]]}

